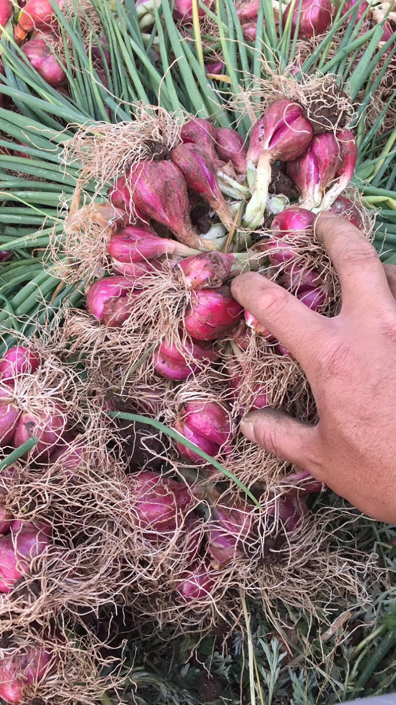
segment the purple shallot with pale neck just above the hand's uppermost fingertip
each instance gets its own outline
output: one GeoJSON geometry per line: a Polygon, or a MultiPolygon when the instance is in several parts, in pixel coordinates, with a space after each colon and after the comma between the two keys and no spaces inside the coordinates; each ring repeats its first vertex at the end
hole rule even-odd
{"type": "Polygon", "coordinates": [[[315,135],[304,154],[288,162],[287,173],[301,193],[302,207],[312,209],[321,204],[340,164],[340,149],[333,133],[315,135]]]}

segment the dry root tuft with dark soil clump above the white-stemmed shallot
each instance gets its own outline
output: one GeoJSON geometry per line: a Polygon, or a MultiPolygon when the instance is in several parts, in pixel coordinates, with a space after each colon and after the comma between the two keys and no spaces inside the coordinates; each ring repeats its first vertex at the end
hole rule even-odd
{"type": "MultiPolygon", "coordinates": [[[[340,90],[335,77],[331,74],[325,76],[303,74],[297,81],[292,76],[292,71],[296,71],[296,63],[283,68],[278,66],[274,71],[268,65],[264,55],[261,55],[263,63],[263,73],[266,78],[251,77],[250,85],[245,92],[248,104],[254,98],[260,99],[260,113],[276,100],[292,100],[304,108],[304,115],[310,121],[314,132],[335,132],[344,130],[352,121],[354,116],[354,105],[345,92],[340,90]]],[[[299,70],[299,68],[298,68],[299,70]]],[[[243,117],[244,108],[242,101],[232,105],[233,110],[238,114],[242,110],[240,118],[243,117]]],[[[249,113],[245,106],[245,114],[249,113]]]]}

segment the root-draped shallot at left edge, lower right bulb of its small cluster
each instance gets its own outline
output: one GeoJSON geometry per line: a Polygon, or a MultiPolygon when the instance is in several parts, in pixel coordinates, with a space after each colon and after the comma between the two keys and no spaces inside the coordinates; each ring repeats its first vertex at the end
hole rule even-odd
{"type": "Polygon", "coordinates": [[[48,460],[55,448],[61,445],[67,429],[68,418],[59,406],[54,405],[51,413],[24,411],[16,425],[14,445],[18,448],[36,436],[39,442],[30,451],[32,458],[48,460]]]}

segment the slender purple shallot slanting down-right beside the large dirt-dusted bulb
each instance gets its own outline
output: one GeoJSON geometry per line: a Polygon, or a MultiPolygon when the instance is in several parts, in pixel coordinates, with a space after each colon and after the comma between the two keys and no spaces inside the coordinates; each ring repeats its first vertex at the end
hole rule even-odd
{"type": "Polygon", "coordinates": [[[179,145],[170,154],[175,164],[184,176],[187,186],[202,196],[216,211],[221,222],[230,230],[233,224],[233,214],[223,198],[216,166],[206,151],[198,145],[179,145]]]}

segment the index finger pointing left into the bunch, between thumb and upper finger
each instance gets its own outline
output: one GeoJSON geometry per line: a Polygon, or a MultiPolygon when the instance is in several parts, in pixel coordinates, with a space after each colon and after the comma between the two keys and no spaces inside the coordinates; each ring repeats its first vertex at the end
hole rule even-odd
{"type": "Polygon", "coordinates": [[[240,274],[231,283],[233,297],[264,324],[308,369],[319,350],[328,319],[312,311],[275,281],[257,272],[240,274]]]}

